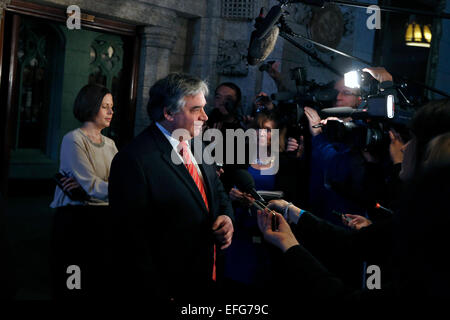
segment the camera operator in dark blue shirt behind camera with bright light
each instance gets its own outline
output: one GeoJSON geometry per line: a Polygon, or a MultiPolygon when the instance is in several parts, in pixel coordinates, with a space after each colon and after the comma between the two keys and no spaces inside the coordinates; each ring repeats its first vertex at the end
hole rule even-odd
{"type": "MultiPolygon", "coordinates": [[[[392,81],[392,76],[384,68],[364,69],[377,80],[392,81]]],[[[335,106],[355,108],[360,101],[355,91],[341,85],[340,80],[335,88],[339,91],[335,106]]],[[[347,142],[331,142],[322,133],[318,124],[326,125],[329,117],[322,121],[317,111],[305,107],[312,135],[312,159],[310,178],[310,207],[322,218],[342,225],[340,218],[332,214],[332,210],[352,214],[366,211],[365,201],[373,194],[378,194],[378,187],[383,182],[371,181],[379,176],[376,161],[379,155],[367,152],[364,148],[352,146],[347,142]],[[363,201],[360,201],[363,200],[363,201]]]]}

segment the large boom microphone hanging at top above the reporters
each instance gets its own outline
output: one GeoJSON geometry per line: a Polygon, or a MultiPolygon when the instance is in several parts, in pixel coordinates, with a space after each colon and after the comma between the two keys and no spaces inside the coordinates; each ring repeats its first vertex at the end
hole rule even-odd
{"type": "MultiPolygon", "coordinates": [[[[263,62],[275,48],[280,30],[275,24],[278,22],[283,11],[281,7],[274,6],[262,21],[255,24],[256,29],[250,37],[247,61],[251,66],[263,62]]],[[[261,18],[257,18],[261,19],[261,18]]]]}

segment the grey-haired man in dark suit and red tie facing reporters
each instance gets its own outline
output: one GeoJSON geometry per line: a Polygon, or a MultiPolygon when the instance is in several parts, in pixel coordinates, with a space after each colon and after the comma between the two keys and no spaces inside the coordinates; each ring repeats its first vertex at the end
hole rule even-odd
{"type": "Polygon", "coordinates": [[[208,119],[207,93],[205,82],[186,74],[157,81],[147,107],[153,124],[112,162],[116,288],[125,297],[211,296],[216,253],[231,244],[233,211],[215,167],[186,143],[208,119]]]}

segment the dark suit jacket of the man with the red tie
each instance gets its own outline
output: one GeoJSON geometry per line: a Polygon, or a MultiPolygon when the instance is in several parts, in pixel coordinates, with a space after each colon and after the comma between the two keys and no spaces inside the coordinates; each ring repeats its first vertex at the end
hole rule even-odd
{"type": "Polygon", "coordinates": [[[185,166],[172,162],[172,150],[152,124],[112,162],[114,278],[116,288],[126,290],[121,293],[125,297],[165,300],[207,294],[213,270],[212,224],[219,215],[233,219],[215,167],[199,163],[208,212],[185,166]]]}

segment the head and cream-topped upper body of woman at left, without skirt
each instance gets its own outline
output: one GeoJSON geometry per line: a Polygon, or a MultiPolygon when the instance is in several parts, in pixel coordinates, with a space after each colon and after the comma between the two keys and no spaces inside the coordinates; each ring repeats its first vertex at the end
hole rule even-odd
{"type": "MultiPolygon", "coordinates": [[[[65,179],[64,189],[70,191],[81,185],[90,196],[86,204],[108,205],[109,169],[117,148],[101,131],[111,124],[112,95],[100,85],[84,86],[75,99],[73,113],[82,125],[67,133],[61,144],[60,171],[72,177],[65,179]]],[[[57,187],[50,206],[81,204],[57,187]]]]}

